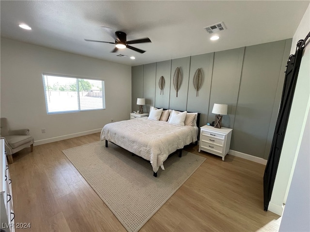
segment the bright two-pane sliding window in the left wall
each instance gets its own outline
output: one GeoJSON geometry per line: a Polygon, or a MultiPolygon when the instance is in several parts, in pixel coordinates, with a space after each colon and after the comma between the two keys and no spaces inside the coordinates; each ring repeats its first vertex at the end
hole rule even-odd
{"type": "Polygon", "coordinates": [[[105,109],[103,80],[43,74],[47,113],[105,109]]]}

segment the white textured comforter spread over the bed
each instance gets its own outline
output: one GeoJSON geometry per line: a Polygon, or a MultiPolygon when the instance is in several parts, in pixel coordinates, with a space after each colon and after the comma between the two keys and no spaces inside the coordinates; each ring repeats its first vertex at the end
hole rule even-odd
{"type": "Polygon", "coordinates": [[[195,142],[197,134],[193,126],[141,118],[106,124],[100,138],[149,160],[157,172],[159,167],[164,170],[163,163],[168,155],[195,142]]]}

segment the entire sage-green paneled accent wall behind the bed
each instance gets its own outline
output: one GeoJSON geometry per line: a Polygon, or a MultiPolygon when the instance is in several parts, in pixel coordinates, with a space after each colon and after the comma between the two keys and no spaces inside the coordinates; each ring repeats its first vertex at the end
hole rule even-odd
{"type": "Polygon", "coordinates": [[[157,108],[200,112],[202,126],[215,121],[215,115],[211,112],[214,103],[228,104],[228,115],[223,116],[222,125],[233,128],[231,150],[267,159],[291,41],[288,39],[132,67],[132,83],[137,83],[133,86],[132,105],[137,101],[134,92],[143,92],[147,104],[157,108]],[[178,97],[173,86],[176,67],[181,67],[183,76],[178,97]],[[143,68],[147,68],[148,73],[144,72],[141,80],[141,72],[135,73],[143,68]],[[197,68],[202,68],[204,78],[198,96],[193,86],[197,68]],[[158,81],[161,76],[165,77],[166,85],[160,95],[158,81]]]}

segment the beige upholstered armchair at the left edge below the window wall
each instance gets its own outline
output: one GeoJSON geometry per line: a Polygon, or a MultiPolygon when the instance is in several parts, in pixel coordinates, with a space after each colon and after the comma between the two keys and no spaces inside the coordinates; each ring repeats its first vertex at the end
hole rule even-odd
{"type": "Polygon", "coordinates": [[[1,139],[4,139],[5,152],[10,163],[13,163],[13,154],[30,146],[33,151],[34,139],[29,129],[10,130],[6,118],[0,119],[1,139]]]}

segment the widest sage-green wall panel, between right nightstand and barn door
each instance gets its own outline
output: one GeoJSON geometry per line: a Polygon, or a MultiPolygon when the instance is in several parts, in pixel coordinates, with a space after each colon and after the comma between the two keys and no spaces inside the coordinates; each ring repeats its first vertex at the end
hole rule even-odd
{"type": "Polygon", "coordinates": [[[245,49],[231,149],[263,157],[285,40],[245,49]]]}

